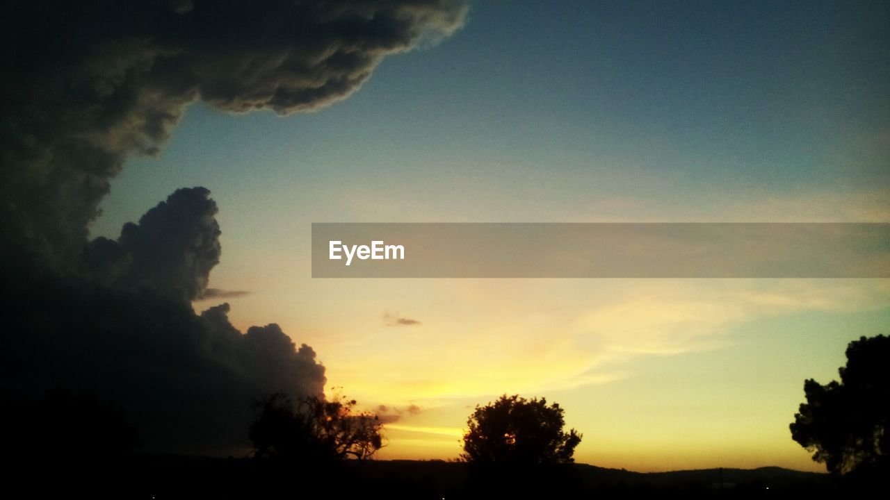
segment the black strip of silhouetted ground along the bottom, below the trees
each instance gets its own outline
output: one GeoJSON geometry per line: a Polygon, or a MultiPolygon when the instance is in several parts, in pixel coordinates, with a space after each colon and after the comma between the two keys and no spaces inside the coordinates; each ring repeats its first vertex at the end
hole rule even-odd
{"type": "MultiPolygon", "coordinates": [[[[15,464],[4,481],[28,497],[609,498],[832,496],[856,485],[778,467],[641,473],[571,464],[478,469],[441,461],[277,463],[247,458],[131,456],[106,463],[15,464]]],[[[841,496],[843,497],[843,496],[841,496]]]]}

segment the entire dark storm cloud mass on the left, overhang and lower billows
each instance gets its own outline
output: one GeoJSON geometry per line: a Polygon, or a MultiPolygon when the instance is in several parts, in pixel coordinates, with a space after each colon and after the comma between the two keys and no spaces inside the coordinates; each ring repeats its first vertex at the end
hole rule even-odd
{"type": "Polygon", "coordinates": [[[191,102],[320,109],[464,15],[448,0],[0,5],[4,398],[94,391],[125,407],[143,449],[228,453],[250,399],[320,393],[315,352],[278,325],[242,334],[228,304],[192,310],[223,295],[208,288],[208,190],[177,190],[117,240],[88,241],[87,225],[126,157],[157,153],[191,102]]]}

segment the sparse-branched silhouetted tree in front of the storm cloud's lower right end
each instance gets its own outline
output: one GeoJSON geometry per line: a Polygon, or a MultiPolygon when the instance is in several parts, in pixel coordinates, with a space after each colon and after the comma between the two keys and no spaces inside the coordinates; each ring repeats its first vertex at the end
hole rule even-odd
{"type": "Polygon", "coordinates": [[[355,412],[355,399],[307,396],[292,401],[278,392],[255,401],[249,437],[255,456],[289,460],[364,460],[383,448],[383,423],[376,415],[355,412]]]}

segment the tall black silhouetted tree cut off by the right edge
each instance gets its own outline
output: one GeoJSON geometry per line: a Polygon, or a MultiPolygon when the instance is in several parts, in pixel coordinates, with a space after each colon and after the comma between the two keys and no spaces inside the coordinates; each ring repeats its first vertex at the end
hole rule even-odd
{"type": "Polygon", "coordinates": [[[806,380],[806,402],[791,437],[829,472],[887,472],[890,456],[890,337],[861,337],[846,348],[840,382],[806,380]]]}

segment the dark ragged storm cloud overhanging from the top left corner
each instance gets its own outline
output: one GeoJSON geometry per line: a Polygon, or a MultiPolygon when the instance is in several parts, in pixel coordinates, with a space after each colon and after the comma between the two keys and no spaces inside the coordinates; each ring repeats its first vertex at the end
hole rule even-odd
{"type": "Polygon", "coordinates": [[[157,152],[190,102],[320,109],[464,16],[452,0],[5,2],[7,244],[76,256],[109,178],[128,153],[157,152]]]}

